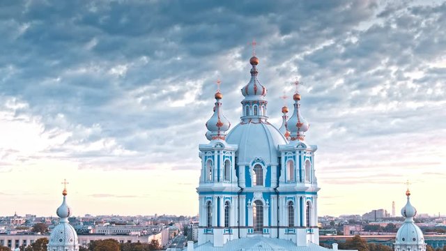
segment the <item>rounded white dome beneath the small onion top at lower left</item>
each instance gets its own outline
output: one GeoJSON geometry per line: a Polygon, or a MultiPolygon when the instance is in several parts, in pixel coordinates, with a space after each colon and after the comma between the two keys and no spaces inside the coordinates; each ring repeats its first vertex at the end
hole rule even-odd
{"type": "Polygon", "coordinates": [[[49,236],[48,251],[66,250],[70,248],[70,251],[79,250],[77,234],[75,229],[67,222],[60,222],[59,225],[54,227],[49,236]]]}

